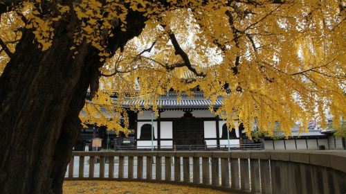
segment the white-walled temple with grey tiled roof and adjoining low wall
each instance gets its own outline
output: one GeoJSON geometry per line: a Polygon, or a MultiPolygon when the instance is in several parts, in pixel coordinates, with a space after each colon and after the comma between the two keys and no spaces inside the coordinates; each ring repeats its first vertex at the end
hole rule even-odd
{"type": "MultiPolygon", "coordinates": [[[[345,148],[345,139],[336,138],[333,133],[322,132],[313,127],[308,132],[292,129],[292,136],[286,139],[282,132],[274,132],[274,137],[263,136],[261,141],[249,140],[244,134],[243,125],[228,130],[226,121],[210,112],[222,105],[218,98],[212,104],[205,99],[203,92],[195,92],[193,98],[185,94],[178,96],[168,92],[157,101],[159,114],[147,109],[142,114],[128,110],[129,136],[108,131],[107,127],[89,126],[82,130],[75,150],[91,146],[91,139],[103,139],[102,148],[111,150],[132,149],[265,149],[265,150],[318,150],[345,148]],[[152,133],[154,132],[154,133],[152,133]],[[323,145],[323,146],[320,146],[323,145]]],[[[124,107],[140,105],[144,100],[129,98],[124,107]]],[[[88,150],[91,150],[89,148],[88,150]]]]}

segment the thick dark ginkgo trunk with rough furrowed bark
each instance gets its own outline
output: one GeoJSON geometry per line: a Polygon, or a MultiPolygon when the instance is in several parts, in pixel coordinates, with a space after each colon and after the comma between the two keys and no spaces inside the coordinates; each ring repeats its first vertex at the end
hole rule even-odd
{"type": "MultiPolygon", "coordinates": [[[[145,26],[141,15],[128,17],[127,32],[114,29],[109,39],[114,51],[145,26]]],[[[62,193],[78,114],[102,65],[88,44],[73,59],[74,26],[59,21],[53,45],[43,52],[26,30],[0,78],[0,193],[62,193]]]]}

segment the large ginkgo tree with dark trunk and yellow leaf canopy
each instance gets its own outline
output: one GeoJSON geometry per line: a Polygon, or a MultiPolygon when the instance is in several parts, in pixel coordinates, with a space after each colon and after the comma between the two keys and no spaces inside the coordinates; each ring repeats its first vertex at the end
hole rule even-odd
{"type": "Polygon", "coordinates": [[[125,132],[127,98],[157,112],[167,89],[199,87],[247,134],[345,116],[343,1],[0,0],[0,14],[0,193],[62,193],[83,107],[125,132]]]}

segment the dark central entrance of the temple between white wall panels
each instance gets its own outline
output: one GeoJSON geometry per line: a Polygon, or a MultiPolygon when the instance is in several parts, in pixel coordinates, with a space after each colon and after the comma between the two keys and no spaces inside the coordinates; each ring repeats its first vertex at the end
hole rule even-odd
{"type": "Polygon", "coordinates": [[[203,145],[204,144],[203,121],[197,120],[192,115],[184,115],[173,121],[174,145],[203,145]]]}

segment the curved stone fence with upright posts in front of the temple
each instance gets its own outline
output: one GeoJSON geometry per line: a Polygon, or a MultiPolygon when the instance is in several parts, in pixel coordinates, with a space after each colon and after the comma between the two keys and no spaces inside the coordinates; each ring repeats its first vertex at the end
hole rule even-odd
{"type": "Polygon", "coordinates": [[[73,152],[66,179],[187,184],[235,193],[346,193],[346,152],[73,152]]]}

